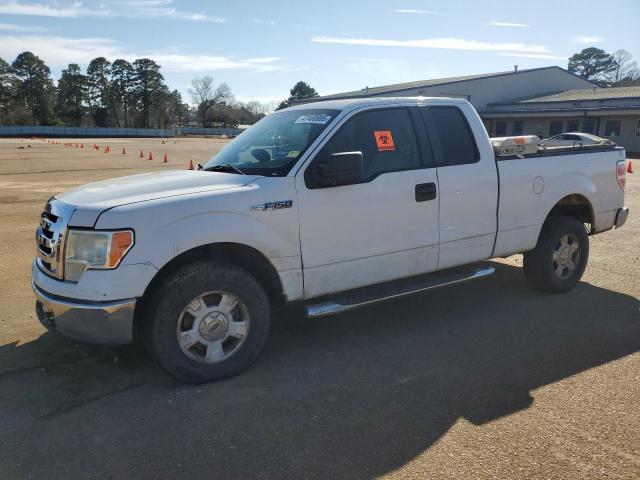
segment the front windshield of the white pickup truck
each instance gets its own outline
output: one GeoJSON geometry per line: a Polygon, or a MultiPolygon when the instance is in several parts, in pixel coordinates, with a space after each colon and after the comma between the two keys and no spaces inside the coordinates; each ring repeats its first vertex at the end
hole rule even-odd
{"type": "Polygon", "coordinates": [[[204,166],[250,175],[282,177],[339,110],[289,110],[272,113],[226,145],[204,166]]]}

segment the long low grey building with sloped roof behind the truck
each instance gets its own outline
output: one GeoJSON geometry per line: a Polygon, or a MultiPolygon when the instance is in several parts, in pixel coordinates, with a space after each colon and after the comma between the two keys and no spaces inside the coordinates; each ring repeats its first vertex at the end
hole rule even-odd
{"type": "Polygon", "coordinates": [[[640,87],[599,88],[555,66],[367,87],[320,100],[399,96],[464,97],[493,137],[583,131],[640,152],[640,87]]]}

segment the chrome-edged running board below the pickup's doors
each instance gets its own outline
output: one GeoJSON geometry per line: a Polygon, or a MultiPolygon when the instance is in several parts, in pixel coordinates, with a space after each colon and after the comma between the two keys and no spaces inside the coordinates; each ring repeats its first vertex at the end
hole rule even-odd
{"type": "Polygon", "coordinates": [[[488,265],[452,268],[441,272],[428,273],[417,277],[403,278],[388,283],[371,285],[329,296],[328,299],[307,305],[309,318],[336,315],[338,313],[364,307],[372,303],[413,295],[435,288],[475,280],[494,273],[496,269],[488,265]]]}

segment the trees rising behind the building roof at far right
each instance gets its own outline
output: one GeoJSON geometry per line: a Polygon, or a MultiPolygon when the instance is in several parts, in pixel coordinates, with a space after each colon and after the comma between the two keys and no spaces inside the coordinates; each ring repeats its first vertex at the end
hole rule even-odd
{"type": "Polygon", "coordinates": [[[638,63],[626,50],[607,53],[596,47],[585,48],[569,58],[568,70],[600,87],[640,85],[638,63]]]}

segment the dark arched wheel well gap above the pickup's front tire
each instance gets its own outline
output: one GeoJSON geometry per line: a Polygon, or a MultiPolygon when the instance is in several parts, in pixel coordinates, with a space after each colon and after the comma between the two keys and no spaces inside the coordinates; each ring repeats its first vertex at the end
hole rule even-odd
{"type": "MultiPolygon", "coordinates": [[[[146,311],[147,301],[162,282],[179,268],[199,260],[214,260],[231,263],[251,273],[264,287],[274,305],[285,302],[280,276],[267,258],[255,248],[237,243],[212,243],[192,248],[165,264],[153,277],[144,295],[138,301],[134,322],[140,326],[146,311]]],[[[135,332],[134,332],[135,333],[135,332]]]]}

